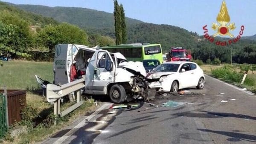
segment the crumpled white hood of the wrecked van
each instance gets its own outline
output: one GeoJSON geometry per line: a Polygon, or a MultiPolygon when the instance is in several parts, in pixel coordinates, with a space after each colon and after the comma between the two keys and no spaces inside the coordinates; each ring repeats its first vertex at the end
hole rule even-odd
{"type": "MultiPolygon", "coordinates": [[[[120,67],[124,67],[126,69],[131,69],[132,72],[134,72],[133,74],[135,75],[135,72],[139,72],[140,75],[143,75],[144,77],[146,76],[146,70],[143,66],[143,63],[140,62],[140,61],[128,61],[128,62],[122,62],[122,63],[119,63],[120,67]]],[[[130,71],[131,72],[131,71],[130,71]]]]}

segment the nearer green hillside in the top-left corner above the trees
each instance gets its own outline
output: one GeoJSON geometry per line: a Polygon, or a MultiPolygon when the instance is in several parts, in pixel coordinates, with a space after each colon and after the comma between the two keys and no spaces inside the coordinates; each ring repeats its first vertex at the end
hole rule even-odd
{"type": "Polygon", "coordinates": [[[13,16],[21,17],[23,20],[29,21],[32,25],[40,24],[40,25],[47,25],[47,24],[57,24],[58,22],[50,17],[43,17],[38,14],[33,14],[31,12],[26,12],[20,9],[17,9],[14,6],[11,6],[7,3],[0,1],[0,15],[3,14],[12,14],[13,16]]]}

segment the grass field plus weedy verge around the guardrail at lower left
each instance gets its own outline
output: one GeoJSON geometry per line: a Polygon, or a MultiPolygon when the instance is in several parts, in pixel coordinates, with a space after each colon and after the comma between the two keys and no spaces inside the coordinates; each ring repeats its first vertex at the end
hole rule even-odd
{"type": "MultiPolygon", "coordinates": [[[[60,118],[53,115],[53,105],[48,103],[42,96],[41,86],[37,83],[35,74],[41,78],[53,81],[53,63],[49,62],[31,62],[14,60],[10,62],[3,61],[3,67],[0,67],[0,89],[7,86],[7,89],[25,89],[27,107],[21,113],[22,121],[12,125],[9,133],[4,138],[4,143],[29,144],[43,141],[49,135],[61,130],[69,125],[72,119],[86,112],[93,111],[96,106],[93,99],[88,99],[84,104],[60,118]],[[56,118],[56,125],[54,120],[56,118]],[[11,131],[17,128],[23,128],[23,133],[13,137],[11,131]]],[[[85,100],[85,98],[83,98],[85,100]]],[[[73,103],[61,103],[61,110],[73,105],[73,103]]]]}

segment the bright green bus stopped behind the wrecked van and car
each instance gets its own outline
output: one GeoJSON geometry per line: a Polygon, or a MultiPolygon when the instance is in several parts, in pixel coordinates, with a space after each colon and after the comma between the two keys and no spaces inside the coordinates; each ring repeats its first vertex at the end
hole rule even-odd
{"type": "Polygon", "coordinates": [[[105,46],[101,49],[109,52],[120,52],[128,61],[143,61],[157,59],[163,63],[162,47],[160,44],[150,43],[131,43],[120,44],[117,46],[105,46]]]}

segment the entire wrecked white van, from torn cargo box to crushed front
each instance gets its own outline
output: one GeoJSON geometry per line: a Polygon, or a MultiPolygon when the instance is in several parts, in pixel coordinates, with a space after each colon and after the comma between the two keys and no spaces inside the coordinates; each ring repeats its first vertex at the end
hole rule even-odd
{"type": "Polygon", "coordinates": [[[145,81],[142,62],[127,61],[119,52],[89,48],[83,45],[55,46],[54,84],[76,81],[85,75],[83,93],[109,95],[113,103],[134,99],[154,99],[155,89],[145,81]]]}

